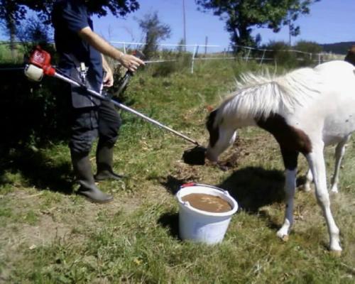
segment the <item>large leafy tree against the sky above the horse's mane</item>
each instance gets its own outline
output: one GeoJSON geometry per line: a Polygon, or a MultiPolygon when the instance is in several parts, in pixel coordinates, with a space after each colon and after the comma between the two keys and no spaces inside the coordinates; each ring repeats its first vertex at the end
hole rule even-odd
{"type": "Polygon", "coordinates": [[[280,31],[288,25],[290,34],[300,33],[293,23],[300,14],[310,13],[310,5],[320,0],[195,0],[202,11],[212,10],[226,21],[226,31],[234,45],[255,45],[252,28],[271,28],[280,31]]]}

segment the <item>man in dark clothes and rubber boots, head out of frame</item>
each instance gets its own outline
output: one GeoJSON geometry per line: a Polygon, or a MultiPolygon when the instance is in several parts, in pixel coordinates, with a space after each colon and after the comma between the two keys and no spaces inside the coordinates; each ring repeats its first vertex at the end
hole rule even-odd
{"type": "MultiPolygon", "coordinates": [[[[136,71],[144,62],[133,55],[121,53],[94,33],[86,2],[55,2],[52,21],[55,46],[60,55],[58,69],[75,80],[82,80],[90,89],[100,92],[102,84],[111,87],[114,83],[104,55],[119,61],[131,72],[136,71]]],[[[80,87],[71,86],[70,89],[73,115],[69,147],[72,165],[80,184],[78,193],[93,202],[109,202],[113,197],[99,190],[95,180],[121,178],[112,170],[114,143],[118,138],[121,119],[111,102],[90,97],[80,87]],[[97,137],[97,174],[93,176],[89,152],[97,137]]]]}

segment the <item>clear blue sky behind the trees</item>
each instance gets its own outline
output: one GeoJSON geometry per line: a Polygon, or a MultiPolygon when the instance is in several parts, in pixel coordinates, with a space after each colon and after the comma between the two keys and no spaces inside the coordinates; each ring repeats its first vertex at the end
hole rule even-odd
{"type": "MultiPolygon", "coordinates": [[[[157,11],[162,23],[171,28],[171,36],[161,43],[177,44],[183,38],[182,0],[138,0],[141,8],[126,18],[94,17],[94,29],[109,41],[141,42],[143,35],[137,19],[147,13],[157,11]]],[[[355,41],[355,0],[321,0],[310,6],[310,14],[301,15],[296,24],[301,33],[292,38],[292,43],[309,40],[317,43],[337,43],[355,41]]],[[[229,33],[224,22],[212,11],[197,11],[195,0],[185,0],[186,41],[189,45],[204,45],[206,37],[209,45],[228,46],[229,33]]],[[[253,35],[260,33],[261,42],[282,40],[288,43],[288,29],[279,33],[267,28],[254,29],[253,35]]]]}

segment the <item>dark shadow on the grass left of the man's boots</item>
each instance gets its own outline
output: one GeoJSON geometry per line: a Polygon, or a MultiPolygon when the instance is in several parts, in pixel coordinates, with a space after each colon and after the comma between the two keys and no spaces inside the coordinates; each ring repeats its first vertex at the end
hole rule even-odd
{"type": "Polygon", "coordinates": [[[73,189],[70,162],[58,163],[40,151],[29,149],[1,151],[0,185],[13,183],[7,173],[21,173],[23,182],[37,190],[51,190],[71,194],[73,189]]]}

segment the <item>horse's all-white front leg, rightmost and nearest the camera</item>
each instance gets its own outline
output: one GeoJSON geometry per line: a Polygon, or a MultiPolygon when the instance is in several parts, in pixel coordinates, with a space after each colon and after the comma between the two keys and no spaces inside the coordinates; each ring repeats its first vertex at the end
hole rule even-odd
{"type": "Polygon", "coordinates": [[[314,145],[312,152],[306,155],[306,158],[310,165],[310,169],[312,170],[317,201],[322,208],[325,220],[327,222],[330,240],[329,249],[331,251],[340,253],[340,251],[342,251],[342,247],[340,246],[339,241],[339,229],[337,224],[335,224],[332,211],[330,209],[323,149],[324,145],[314,145]]]}

